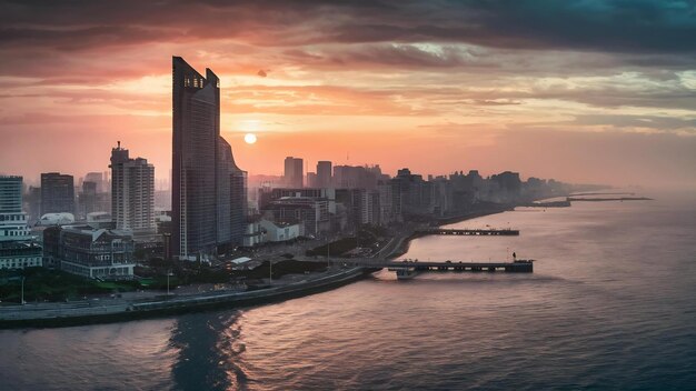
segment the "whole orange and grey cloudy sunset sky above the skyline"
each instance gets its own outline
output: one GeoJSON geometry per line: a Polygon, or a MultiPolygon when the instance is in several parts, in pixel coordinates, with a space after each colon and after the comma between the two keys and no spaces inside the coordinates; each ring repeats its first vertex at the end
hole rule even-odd
{"type": "Polygon", "coordinates": [[[168,178],[172,56],[220,77],[250,174],[696,188],[696,2],[675,0],[0,0],[0,172],[107,171],[118,140],[168,178]]]}

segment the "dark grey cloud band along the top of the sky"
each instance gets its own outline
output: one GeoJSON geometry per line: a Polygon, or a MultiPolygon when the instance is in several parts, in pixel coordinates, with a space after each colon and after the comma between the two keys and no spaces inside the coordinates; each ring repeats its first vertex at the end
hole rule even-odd
{"type": "Polygon", "coordinates": [[[464,42],[514,49],[695,53],[678,0],[2,1],[0,48],[84,49],[246,37],[264,44],[464,42]]]}

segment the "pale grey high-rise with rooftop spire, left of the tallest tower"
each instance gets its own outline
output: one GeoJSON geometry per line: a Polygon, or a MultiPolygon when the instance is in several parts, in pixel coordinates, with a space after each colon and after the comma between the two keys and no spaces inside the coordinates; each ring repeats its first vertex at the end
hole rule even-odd
{"type": "MultiPolygon", "coordinates": [[[[155,167],[146,159],[130,159],[128,150],[111,149],[111,215],[116,228],[153,232],[155,167]]],[[[87,182],[89,183],[89,182],[87,182]]]]}

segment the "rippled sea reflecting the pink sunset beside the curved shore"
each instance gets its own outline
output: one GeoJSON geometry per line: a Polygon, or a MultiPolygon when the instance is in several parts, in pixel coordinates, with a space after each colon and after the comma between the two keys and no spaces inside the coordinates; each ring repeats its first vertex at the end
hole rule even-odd
{"type": "Polygon", "coordinates": [[[696,390],[696,194],[575,202],[425,237],[404,258],[534,273],[377,272],[305,298],[0,331],[0,390],[696,390]]]}

